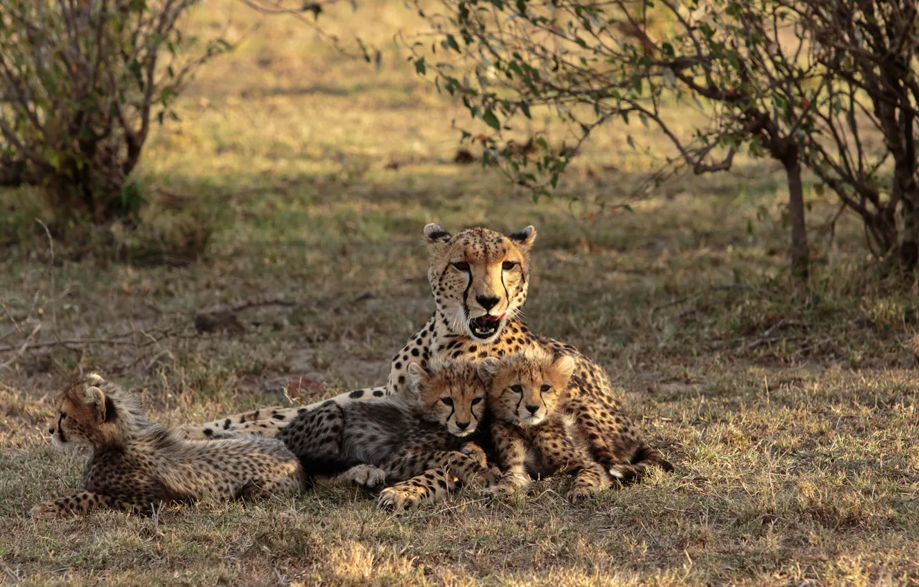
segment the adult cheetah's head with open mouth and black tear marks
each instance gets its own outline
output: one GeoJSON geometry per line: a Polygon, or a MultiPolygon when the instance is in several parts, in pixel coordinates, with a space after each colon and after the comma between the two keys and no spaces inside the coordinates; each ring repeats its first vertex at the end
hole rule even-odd
{"type": "Polygon", "coordinates": [[[452,236],[438,224],[427,224],[425,239],[431,253],[427,281],[437,310],[455,333],[493,342],[527,301],[536,229],[527,226],[504,236],[470,228],[452,236]]]}

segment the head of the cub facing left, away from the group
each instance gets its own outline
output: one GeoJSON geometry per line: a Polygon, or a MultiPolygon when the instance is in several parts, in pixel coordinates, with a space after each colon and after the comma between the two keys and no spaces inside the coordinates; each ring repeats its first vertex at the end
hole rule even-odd
{"type": "Polygon", "coordinates": [[[137,398],[94,373],[63,392],[57,420],[48,432],[59,446],[74,443],[99,447],[119,442],[142,421],[137,398]]]}

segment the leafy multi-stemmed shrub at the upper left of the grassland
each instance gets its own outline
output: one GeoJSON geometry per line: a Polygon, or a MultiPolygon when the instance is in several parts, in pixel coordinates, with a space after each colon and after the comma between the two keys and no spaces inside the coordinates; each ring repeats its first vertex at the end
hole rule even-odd
{"type": "Polygon", "coordinates": [[[136,218],[153,122],[228,49],[178,28],[199,0],[0,0],[0,183],[41,185],[62,230],[136,218]]]}

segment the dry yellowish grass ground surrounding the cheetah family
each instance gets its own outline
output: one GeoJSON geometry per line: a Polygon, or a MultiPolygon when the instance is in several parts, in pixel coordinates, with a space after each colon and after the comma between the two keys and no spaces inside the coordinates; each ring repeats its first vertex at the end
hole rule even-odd
{"type": "MultiPolygon", "coordinates": [[[[232,0],[207,9],[193,23],[205,32],[256,20],[232,0]]],[[[652,165],[610,131],[562,197],[533,203],[492,170],[446,163],[457,138],[448,121],[461,112],[387,43],[391,28],[415,26],[411,13],[362,7],[334,26],[383,46],[380,72],[324,50],[295,22],[268,19],[199,77],[184,121],[154,138],[142,169],[149,224],[165,235],[195,223],[212,231],[198,263],[111,263],[117,251],[102,239],[58,243],[51,266],[43,232],[29,236],[28,194],[0,194],[27,235],[0,256],[0,337],[27,317],[46,341],[133,333],[118,345],[27,351],[0,371],[4,581],[919,581],[919,303],[914,286],[870,269],[854,224],[844,218],[832,247],[813,233],[813,295],[801,299],[789,293],[783,190],[767,166],[681,178],[633,214],[590,221],[566,196],[615,201],[652,165]],[[381,382],[393,349],[432,308],[419,238],[431,220],[538,226],[528,322],[607,367],[675,474],[577,508],[559,496],[563,480],[550,479],[527,499],[460,493],[403,515],[321,488],[155,520],[28,519],[35,501],[79,482],[79,458],[51,450],[41,431],[49,398],[80,369],[133,386],[174,424],[277,403],[291,381],[304,400],[381,382]],[[263,295],[298,305],[246,310],[241,333],[191,326],[196,309],[263,295]]],[[[654,144],[650,132],[641,140],[654,144]]],[[[816,226],[832,211],[816,195],[811,203],[816,226]]]]}

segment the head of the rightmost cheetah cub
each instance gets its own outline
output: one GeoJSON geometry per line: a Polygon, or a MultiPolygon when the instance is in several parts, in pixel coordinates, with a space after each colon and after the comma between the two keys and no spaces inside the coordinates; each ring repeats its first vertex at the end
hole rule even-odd
{"type": "Polygon", "coordinates": [[[529,350],[503,359],[479,363],[479,375],[488,386],[488,409],[494,418],[521,426],[539,424],[567,397],[574,360],[549,351],[529,350]]]}

